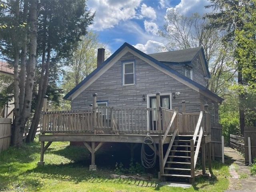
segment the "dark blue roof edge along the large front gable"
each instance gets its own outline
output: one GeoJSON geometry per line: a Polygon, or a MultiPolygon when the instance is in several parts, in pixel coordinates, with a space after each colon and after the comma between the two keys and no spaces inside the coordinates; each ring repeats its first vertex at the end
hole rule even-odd
{"type": "MultiPolygon", "coordinates": [[[[195,86],[196,88],[206,92],[207,94],[209,94],[210,96],[213,96],[214,98],[216,98],[219,102],[222,102],[222,98],[220,98],[218,95],[214,94],[213,92],[211,92],[210,90],[208,90],[206,87],[198,84],[197,82],[194,82],[193,80],[191,80],[190,78],[187,78],[185,76],[183,76],[182,74],[180,74],[179,72],[177,72],[176,70],[173,70],[172,68],[164,65],[162,62],[156,60],[155,58],[151,57],[148,54],[145,54],[144,52],[134,48],[134,46],[128,44],[128,43],[124,43],[120,48],[118,48],[118,50],[116,50],[116,52],[114,52],[114,54],[112,54],[106,61],[104,61],[98,68],[96,68],[91,74],[89,74],[86,78],[84,78],[84,80],[82,80],[76,87],[74,87],[70,92],[68,92],[68,94],[66,94],[64,96],[64,99],[66,100],[71,100],[72,95],[78,91],[82,86],[84,86],[84,84],[86,84],[86,82],[88,82],[91,78],[93,78],[96,74],[100,73],[100,71],[102,70],[102,68],[104,68],[105,66],[108,65],[108,63],[113,60],[116,56],[118,56],[125,48],[130,49],[131,51],[135,52],[136,54],[138,54],[139,56],[153,62],[154,64],[156,64],[158,67],[160,67],[161,70],[166,70],[167,72],[171,72],[172,74],[174,74],[174,76],[184,80],[185,82],[187,82],[190,85],[195,86]]],[[[81,90],[83,91],[83,90],[81,90]]]]}

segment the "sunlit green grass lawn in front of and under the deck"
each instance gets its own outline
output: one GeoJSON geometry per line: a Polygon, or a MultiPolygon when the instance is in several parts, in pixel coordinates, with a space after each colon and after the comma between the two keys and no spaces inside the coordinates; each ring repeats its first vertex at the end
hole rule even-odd
{"type": "Polygon", "coordinates": [[[24,144],[21,148],[10,147],[0,153],[0,191],[222,192],[228,188],[228,166],[218,161],[212,162],[212,178],[198,178],[190,188],[177,188],[159,186],[157,179],[143,181],[111,178],[115,162],[97,163],[97,158],[102,160],[104,156],[107,159],[111,154],[99,150],[96,153],[97,171],[89,171],[90,153],[83,146],[70,146],[69,142],[53,142],[45,152],[45,166],[37,166],[40,160],[38,141],[24,144]]]}

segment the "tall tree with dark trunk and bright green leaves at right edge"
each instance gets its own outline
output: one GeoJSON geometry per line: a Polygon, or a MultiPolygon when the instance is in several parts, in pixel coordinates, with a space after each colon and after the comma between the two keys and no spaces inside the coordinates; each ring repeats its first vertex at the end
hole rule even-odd
{"type": "Polygon", "coordinates": [[[253,81],[255,80],[254,53],[249,48],[253,46],[249,42],[254,42],[256,35],[255,29],[253,29],[255,24],[255,0],[210,0],[210,2],[212,4],[206,6],[206,8],[213,8],[212,13],[206,14],[206,17],[210,20],[210,28],[218,28],[225,32],[223,42],[229,44],[233,49],[232,55],[236,61],[236,71],[238,73],[238,86],[236,88],[239,91],[240,103],[240,134],[243,135],[246,94],[248,94],[247,90],[250,90],[248,88],[254,87],[253,81]]]}

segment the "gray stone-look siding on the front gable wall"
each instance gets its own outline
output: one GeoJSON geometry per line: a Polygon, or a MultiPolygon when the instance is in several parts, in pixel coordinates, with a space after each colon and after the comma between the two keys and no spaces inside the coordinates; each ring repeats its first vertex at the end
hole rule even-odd
{"type": "Polygon", "coordinates": [[[92,104],[92,94],[97,93],[98,101],[108,101],[109,106],[116,108],[146,108],[147,101],[142,95],[170,94],[180,92],[180,96],[170,98],[172,108],[182,110],[182,100],[186,100],[186,111],[200,111],[199,93],[174,78],[150,66],[131,53],[125,54],[118,62],[93,82],[86,90],[72,100],[73,110],[88,109],[92,104]],[[135,84],[122,85],[122,62],[135,60],[135,84]]]}

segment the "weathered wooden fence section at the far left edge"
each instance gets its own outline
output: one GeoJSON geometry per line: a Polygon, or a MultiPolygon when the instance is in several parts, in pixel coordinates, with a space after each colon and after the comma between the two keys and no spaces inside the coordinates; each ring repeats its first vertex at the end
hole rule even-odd
{"type": "Polygon", "coordinates": [[[11,142],[12,119],[0,118],[0,152],[6,150],[11,142]]]}

